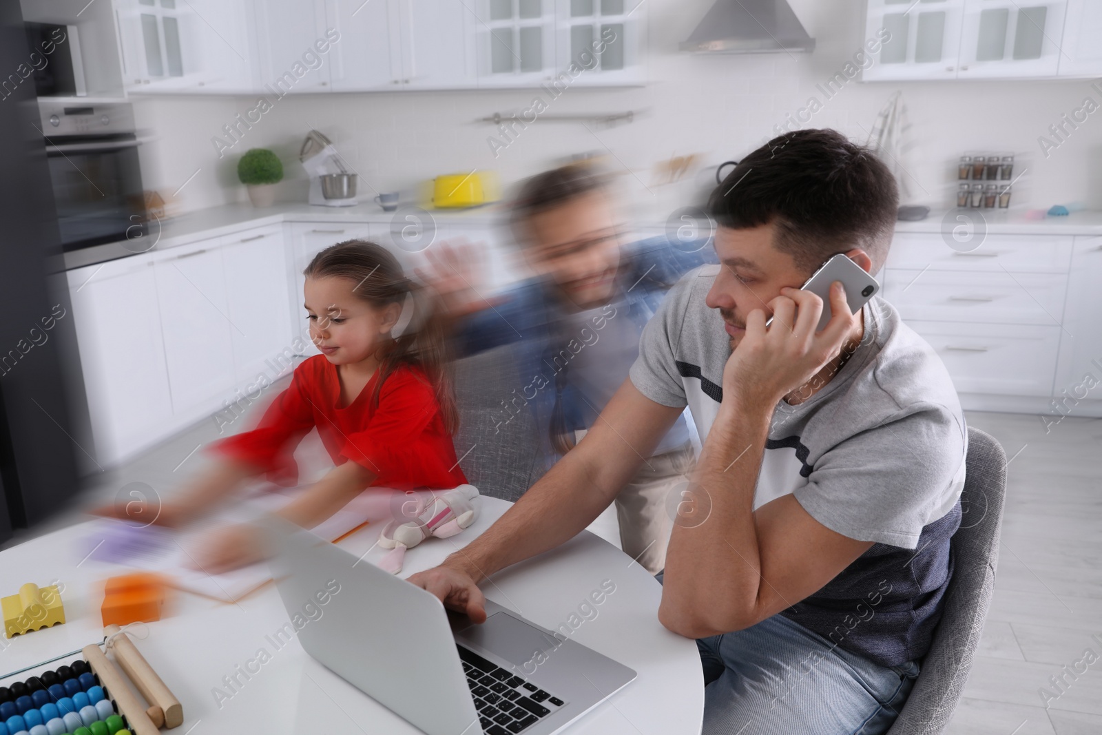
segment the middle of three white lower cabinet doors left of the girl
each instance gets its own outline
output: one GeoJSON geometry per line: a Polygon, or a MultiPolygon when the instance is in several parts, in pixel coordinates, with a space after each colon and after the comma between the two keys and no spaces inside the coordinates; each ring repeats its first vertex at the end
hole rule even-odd
{"type": "Polygon", "coordinates": [[[235,383],[233,333],[248,333],[229,316],[217,239],[159,255],[153,270],[172,412],[194,420],[220,408],[235,383]]]}

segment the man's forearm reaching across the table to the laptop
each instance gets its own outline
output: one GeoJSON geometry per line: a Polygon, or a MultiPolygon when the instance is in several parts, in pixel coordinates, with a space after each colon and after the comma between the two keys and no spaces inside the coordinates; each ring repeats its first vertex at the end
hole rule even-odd
{"type": "Polygon", "coordinates": [[[619,489],[594,472],[581,445],[532,485],[501,518],[444,564],[475,582],[558,547],[580,533],[608,507],[619,489]],[[609,487],[613,486],[613,487],[609,487]]]}

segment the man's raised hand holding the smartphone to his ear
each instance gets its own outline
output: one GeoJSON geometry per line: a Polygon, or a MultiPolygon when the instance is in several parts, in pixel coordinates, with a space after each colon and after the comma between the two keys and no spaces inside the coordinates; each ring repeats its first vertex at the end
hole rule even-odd
{"type": "Polygon", "coordinates": [[[764,310],[746,315],[746,333],[723,369],[724,398],[731,396],[773,408],[838,357],[861,320],[850,313],[840,281],[831,284],[831,318],[815,333],[823,302],[810,291],[785,288],[769,302],[773,324],[766,329],[764,310]]]}

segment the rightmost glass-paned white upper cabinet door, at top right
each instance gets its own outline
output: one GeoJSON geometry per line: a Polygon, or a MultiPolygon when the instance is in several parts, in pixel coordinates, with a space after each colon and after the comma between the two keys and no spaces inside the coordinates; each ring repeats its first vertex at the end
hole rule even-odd
{"type": "Polygon", "coordinates": [[[1066,6],[964,0],[957,78],[1056,76],[1066,6]]]}

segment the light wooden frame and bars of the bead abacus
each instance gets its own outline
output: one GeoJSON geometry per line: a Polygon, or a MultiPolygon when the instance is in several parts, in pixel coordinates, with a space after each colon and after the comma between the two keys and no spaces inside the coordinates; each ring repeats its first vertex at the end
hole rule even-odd
{"type": "Polygon", "coordinates": [[[114,702],[133,735],[158,735],[162,726],[171,728],[182,724],[184,711],[180,700],[164,684],[133,641],[117,625],[108,626],[104,631],[106,634],[104,640],[98,644],[88,644],[78,651],[62,653],[18,671],[4,673],[0,675],[0,681],[79,655],[99,678],[104,695],[114,702]],[[107,658],[100,646],[115,650],[115,658],[122,671],[107,658]],[[150,703],[149,707],[143,706],[130,691],[126,683],[127,679],[150,703]]]}

